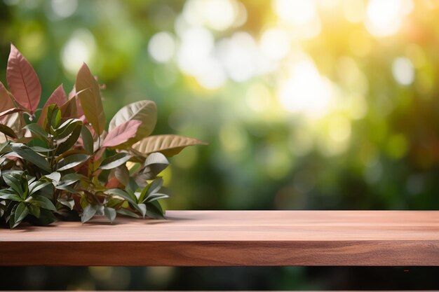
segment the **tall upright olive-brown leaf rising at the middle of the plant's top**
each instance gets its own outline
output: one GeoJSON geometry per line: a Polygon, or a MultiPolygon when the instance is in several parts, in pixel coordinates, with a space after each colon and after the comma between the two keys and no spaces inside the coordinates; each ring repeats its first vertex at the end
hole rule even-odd
{"type": "Polygon", "coordinates": [[[84,63],[76,75],[76,92],[88,122],[97,134],[102,134],[105,127],[105,115],[100,97],[99,84],[84,63]],[[83,90],[82,92],[80,92],[83,90]]]}

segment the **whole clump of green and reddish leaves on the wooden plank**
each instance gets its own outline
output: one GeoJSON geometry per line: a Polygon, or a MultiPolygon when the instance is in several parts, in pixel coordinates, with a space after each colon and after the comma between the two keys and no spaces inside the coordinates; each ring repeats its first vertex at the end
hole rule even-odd
{"type": "Polygon", "coordinates": [[[62,85],[38,109],[41,85],[11,45],[0,82],[0,220],[46,225],[77,212],[81,221],[116,214],[163,218],[160,199],[167,157],[204,144],[177,135],[154,135],[156,104],[134,102],[109,121],[100,85],[83,64],[67,95],[62,85]]]}

